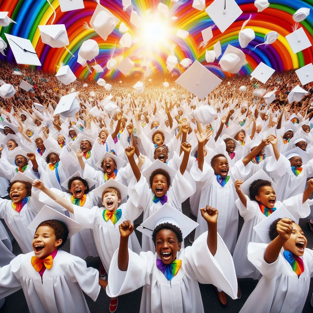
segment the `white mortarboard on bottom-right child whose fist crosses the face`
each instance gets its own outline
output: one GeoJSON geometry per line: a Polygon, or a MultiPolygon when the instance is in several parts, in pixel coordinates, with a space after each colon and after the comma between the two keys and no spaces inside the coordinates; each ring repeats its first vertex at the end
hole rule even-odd
{"type": "Polygon", "coordinates": [[[254,226],[254,231],[257,233],[259,238],[262,240],[264,244],[269,244],[271,239],[269,238],[269,227],[271,224],[278,218],[290,218],[292,221],[296,222],[296,219],[287,211],[284,207],[280,207],[275,210],[272,214],[270,214],[267,218],[265,218],[259,224],[254,226]]]}

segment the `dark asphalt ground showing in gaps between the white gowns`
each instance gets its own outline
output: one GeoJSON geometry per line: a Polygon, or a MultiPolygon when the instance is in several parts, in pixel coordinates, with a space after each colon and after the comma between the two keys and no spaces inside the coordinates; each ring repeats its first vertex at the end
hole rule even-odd
{"type": "MultiPolygon", "coordinates": [[[[182,205],[183,213],[189,216],[190,213],[190,205],[189,200],[185,201],[182,205]]],[[[139,225],[142,221],[142,215],[135,221],[135,226],[139,225]]],[[[243,220],[239,219],[239,231],[243,225],[243,220]]],[[[302,230],[305,232],[308,244],[307,248],[313,249],[313,233],[310,231],[310,228],[307,224],[307,219],[300,219],[300,226],[302,230]]],[[[139,242],[141,243],[141,233],[136,231],[138,236],[139,242]]],[[[188,237],[185,239],[185,246],[190,245],[188,241],[188,237]]],[[[69,252],[69,240],[64,245],[63,249],[69,252]]],[[[18,255],[21,252],[18,244],[14,242],[13,244],[13,253],[18,255]]],[[[93,257],[88,257],[86,259],[87,266],[92,266],[98,268],[98,259],[93,257]]],[[[241,307],[244,305],[244,302],[248,299],[250,293],[254,290],[255,286],[257,285],[258,281],[253,279],[241,279],[239,281],[242,297],[239,300],[233,300],[228,297],[228,305],[226,307],[222,307],[218,302],[216,293],[213,289],[212,285],[202,285],[200,286],[200,291],[202,295],[202,301],[204,306],[204,312],[211,313],[211,312],[222,312],[222,313],[237,313],[240,311],[241,307]]],[[[142,288],[137,289],[134,292],[131,292],[127,295],[122,295],[118,299],[118,308],[116,313],[135,313],[139,312],[140,310],[140,301],[141,301],[141,292],[142,288]]],[[[311,279],[310,290],[305,302],[305,306],[303,309],[303,313],[311,313],[313,312],[312,307],[310,306],[310,300],[313,293],[313,284],[311,279]]],[[[105,291],[101,289],[98,299],[94,302],[88,296],[85,295],[87,304],[89,306],[91,313],[106,313],[109,312],[109,303],[110,298],[106,295],[105,291]]],[[[266,299],[262,299],[262,295],[260,295],[260,300],[266,301],[266,299]]],[[[255,304],[257,305],[257,303],[255,304]]],[[[3,311],[4,313],[27,313],[29,312],[27,303],[25,300],[25,296],[22,290],[15,292],[14,294],[6,297],[6,307],[3,311]]],[[[74,312],[69,312],[74,313],[74,312]]],[[[167,313],[167,312],[164,312],[167,313]]]]}

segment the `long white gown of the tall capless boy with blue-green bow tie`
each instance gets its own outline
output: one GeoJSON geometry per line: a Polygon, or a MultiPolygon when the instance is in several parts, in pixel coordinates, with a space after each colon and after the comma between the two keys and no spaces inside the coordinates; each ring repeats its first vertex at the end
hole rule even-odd
{"type": "Polygon", "coordinates": [[[230,253],[233,253],[238,232],[238,210],[235,204],[233,184],[236,179],[244,179],[249,170],[249,165],[245,167],[244,163],[239,160],[234,167],[229,169],[229,180],[222,187],[217,181],[213,168],[207,162],[204,162],[202,172],[198,168],[198,162],[193,165],[190,174],[196,181],[201,182],[202,191],[197,219],[199,226],[196,228],[195,238],[198,238],[208,228],[207,223],[202,218],[200,208],[209,205],[218,209],[218,233],[223,238],[230,253]]]}

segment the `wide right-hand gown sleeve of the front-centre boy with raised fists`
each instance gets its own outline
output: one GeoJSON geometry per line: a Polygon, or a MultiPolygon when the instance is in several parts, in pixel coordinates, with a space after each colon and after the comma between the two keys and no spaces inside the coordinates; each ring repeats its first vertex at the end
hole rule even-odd
{"type": "Polygon", "coordinates": [[[208,249],[207,236],[206,231],[185,249],[182,262],[186,271],[200,284],[213,284],[232,299],[237,299],[238,284],[232,256],[219,234],[213,256],[208,249]]]}

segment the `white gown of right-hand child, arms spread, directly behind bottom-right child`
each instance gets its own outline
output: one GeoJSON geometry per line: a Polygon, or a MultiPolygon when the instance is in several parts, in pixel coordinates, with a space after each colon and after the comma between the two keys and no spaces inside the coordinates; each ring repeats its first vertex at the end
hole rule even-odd
{"type": "MultiPolygon", "coordinates": [[[[247,207],[245,207],[240,199],[236,200],[240,215],[244,218],[244,225],[238,237],[233,260],[235,264],[236,274],[238,278],[253,278],[259,279],[260,272],[249,262],[247,257],[249,242],[262,243],[253,227],[262,222],[266,216],[261,212],[259,204],[256,201],[251,201],[247,196],[247,207]]],[[[283,202],[276,202],[275,208],[285,208],[298,223],[299,218],[305,218],[310,214],[310,207],[307,202],[302,203],[303,194],[286,199],[283,202]]]]}

